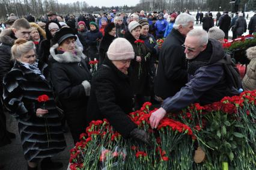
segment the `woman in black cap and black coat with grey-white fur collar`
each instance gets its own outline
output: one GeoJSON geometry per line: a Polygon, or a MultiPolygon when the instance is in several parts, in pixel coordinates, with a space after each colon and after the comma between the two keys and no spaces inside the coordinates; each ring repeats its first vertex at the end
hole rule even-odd
{"type": "Polygon", "coordinates": [[[90,96],[90,72],[85,55],[76,46],[72,28],[61,28],[52,39],[49,63],[53,88],[61,103],[74,143],[85,130],[85,112],[90,96]]]}

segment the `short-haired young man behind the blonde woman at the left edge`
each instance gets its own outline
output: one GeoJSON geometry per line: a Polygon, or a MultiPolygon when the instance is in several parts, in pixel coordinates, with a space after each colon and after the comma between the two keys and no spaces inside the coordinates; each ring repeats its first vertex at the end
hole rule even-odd
{"type": "MultiPolygon", "coordinates": [[[[29,22],[25,19],[17,19],[12,28],[4,29],[0,34],[0,120],[2,121],[3,127],[6,130],[6,120],[4,115],[4,106],[2,104],[2,81],[4,76],[13,67],[13,62],[11,62],[11,47],[17,38],[25,38],[29,40],[30,38],[30,28],[29,22]]],[[[2,133],[2,132],[1,132],[2,133]]],[[[7,135],[1,134],[3,138],[15,138],[14,133],[7,131],[7,135]]],[[[1,136],[0,136],[1,137],[1,136]]],[[[4,142],[5,139],[0,138],[0,141],[4,142]]],[[[8,141],[8,139],[7,139],[8,141]]],[[[1,145],[1,144],[0,144],[1,145]]]]}

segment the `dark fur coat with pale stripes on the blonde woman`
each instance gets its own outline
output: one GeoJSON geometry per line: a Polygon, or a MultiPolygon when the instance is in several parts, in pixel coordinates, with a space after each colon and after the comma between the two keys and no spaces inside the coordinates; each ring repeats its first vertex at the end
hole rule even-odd
{"type": "Polygon", "coordinates": [[[3,81],[5,107],[18,121],[25,159],[31,162],[52,157],[66,147],[60,114],[47,80],[47,65],[39,62],[38,68],[46,79],[16,61],[3,81]],[[43,94],[49,100],[39,103],[38,96],[43,94]],[[43,118],[37,117],[38,108],[47,109],[48,113],[43,118]]]}

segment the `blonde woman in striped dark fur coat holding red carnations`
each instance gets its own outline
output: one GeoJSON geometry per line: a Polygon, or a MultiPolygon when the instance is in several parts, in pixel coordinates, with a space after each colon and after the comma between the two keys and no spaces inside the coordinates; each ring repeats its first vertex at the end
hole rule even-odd
{"type": "Polygon", "coordinates": [[[61,162],[50,160],[66,148],[66,142],[47,79],[48,67],[35,58],[32,41],[17,39],[11,53],[15,64],[4,77],[4,105],[18,121],[28,169],[37,169],[41,159],[41,169],[61,168],[61,162]],[[43,100],[42,94],[47,96],[43,100]]]}

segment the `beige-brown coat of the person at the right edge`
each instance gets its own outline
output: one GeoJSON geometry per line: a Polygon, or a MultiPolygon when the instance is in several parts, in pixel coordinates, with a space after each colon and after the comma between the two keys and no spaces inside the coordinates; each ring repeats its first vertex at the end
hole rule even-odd
{"type": "Polygon", "coordinates": [[[247,49],[246,54],[251,61],[243,78],[243,88],[245,90],[256,90],[256,46],[247,49]]]}

